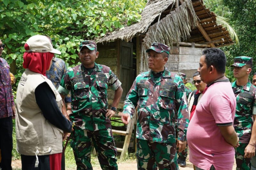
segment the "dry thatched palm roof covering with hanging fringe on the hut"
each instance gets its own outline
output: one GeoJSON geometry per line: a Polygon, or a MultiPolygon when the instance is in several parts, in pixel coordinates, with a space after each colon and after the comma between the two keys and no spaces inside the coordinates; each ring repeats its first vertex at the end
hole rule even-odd
{"type": "MultiPolygon", "coordinates": [[[[161,13],[169,6],[173,5],[174,2],[175,0],[149,0],[141,14],[140,22],[111,32],[109,35],[99,39],[97,43],[115,41],[116,39],[128,40],[137,34],[147,32],[151,23],[156,18],[159,18],[161,13]]],[[[196,26],[196,20],[196,13],[193,9],[192,2],[191,0],[187,0],[176,8],[175,11],[171,11],[170,14],[166,15],[166,17],[152,25],[149,31],[151,31],[151,34],[154,34],[154,36],[156,29],[161,29],[160,32],[162,33],[165,32],[165,35],[161,34],[161,36],[164,36],[166,39],[163,41],[163,37],[161,37],[161,40],[158,42],[166,43],[179,41],[180,38],[186,38],[189,36],[189,32],[191,31],[190,29],[196,26]]],[[[157,30],[157,32],[159,32],[159,30],[157,30]]],[[[156,41],[159,38],[160,37],[156,38],[156,41]]],[[[172,46],[170,43],[166,44],[172,46]]]]}

